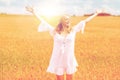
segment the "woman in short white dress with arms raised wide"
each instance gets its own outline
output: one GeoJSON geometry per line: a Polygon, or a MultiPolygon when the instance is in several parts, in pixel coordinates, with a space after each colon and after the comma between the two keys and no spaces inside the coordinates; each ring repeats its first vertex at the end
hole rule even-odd
{"type": "Polygon", "coordinates": [[[26,7],[26,10],[35,14],[41,21],[38,31],[49,31],[54,39],[52,56],[47,72],[56,74],[57,80],[64,80],[64,74],[66,74],[66,80],[72,80],[72,75],[76,72],[76,67],[78,66],[74,56],[75,35],[79,31],[83,33],[85,24],[101,13],[101,10],[80,21],[74,27],[70,25],[70,17],[63,15],[56,28],[45,22],[33,8],[26,7]]]}

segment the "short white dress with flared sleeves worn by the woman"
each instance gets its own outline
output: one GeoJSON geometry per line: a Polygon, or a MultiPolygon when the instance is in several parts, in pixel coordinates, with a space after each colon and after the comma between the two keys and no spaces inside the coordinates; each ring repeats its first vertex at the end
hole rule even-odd
{"type": "MultiPolygon", "coordinates": [[[[37,13],[36,16],[38,17],[37,13]]],[[[73,27],[73,30],[66,37],[64,37],[58,33],[53,35],[54,27],[46,23],[44,20],[41,21],[38,31],[49,31],[54,39],[52,56],[47,72],[57,75],[63,75],[64,73],[73,74],[76,72],[78,63],[74,55],[75,35],[78,31],[83,32],[84,27],[85,21],[81,21],[73,27]]]]}

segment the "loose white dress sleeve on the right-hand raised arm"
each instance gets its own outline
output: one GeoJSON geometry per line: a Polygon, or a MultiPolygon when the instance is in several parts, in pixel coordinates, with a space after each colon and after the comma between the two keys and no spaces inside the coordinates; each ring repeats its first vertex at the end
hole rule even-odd
{"type": "Polygon", "coordinates": [[[85,21],[81,21],[81,22],[79,22],[77,25],[75,25],[75,26],[73,27],[73,30],[74,30],[75,32],[81,31],[81,33],[84,33],[85,25],[86,25],[86,22],[85,22],[85,21]]]}

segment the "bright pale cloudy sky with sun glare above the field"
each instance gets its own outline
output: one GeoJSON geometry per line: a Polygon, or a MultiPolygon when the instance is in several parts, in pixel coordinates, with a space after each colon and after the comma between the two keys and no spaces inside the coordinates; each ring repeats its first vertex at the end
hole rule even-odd
{"type": "Polygon", "coordinates": [[[120,15],[120,0],[0,0],[0,13],[29,14],[25,6],[34,7],[42,15],[84,15],[97,9],[120,15]]]}

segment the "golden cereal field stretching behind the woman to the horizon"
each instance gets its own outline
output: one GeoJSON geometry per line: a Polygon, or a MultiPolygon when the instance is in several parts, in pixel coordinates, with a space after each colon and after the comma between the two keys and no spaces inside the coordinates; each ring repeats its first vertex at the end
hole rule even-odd
{"type": "MultiPolygon", "coordinates": [[[[72,17],[72,25],[87,17],[72,17]]],[[[59,17],[45,18],[53,26],[59,17]]],[[[56,22],[57,21],[57,22],[56,22]]],[[[46,72],[53,39],[34,16],[0,15],[0,80],[55,80],[46,72]]],[[[120,17],[96,17],[76,35],[73,80],[120,80],[120,17]]]]}

